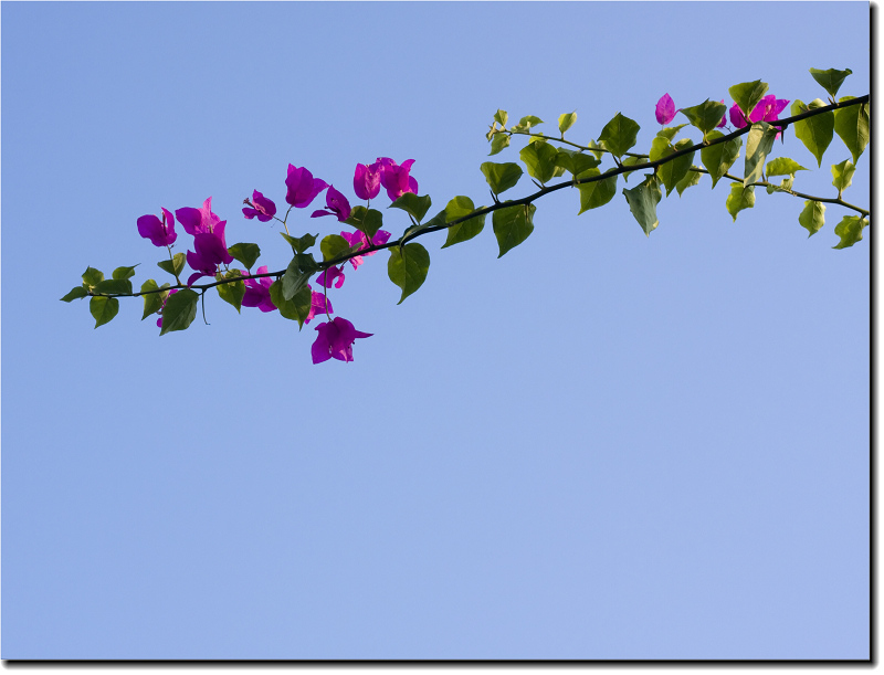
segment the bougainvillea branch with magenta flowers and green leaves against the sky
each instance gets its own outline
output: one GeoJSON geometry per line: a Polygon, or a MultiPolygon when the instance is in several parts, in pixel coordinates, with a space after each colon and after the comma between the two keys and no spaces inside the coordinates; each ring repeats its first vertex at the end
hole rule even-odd
{"type": "MultiPolygon", "coordinates": [[[[768,193],[779,192],[803,199],[804,208],[798,217],[799,224],[810,235],[824,224],[825,204],[835,204],[849,209],[860,215],[845,215],[835,226],[840,242],[833,246],[845,249],[862,240],[862,231],[869,224],[870,211],[856,207],[842,198],[842,193],[851,186],[855,165],[869,143],[869,102],[867,95],[860,97],[842,96],[835,101],[838,91],[850,70],[830,68],[821,71],[811,68],[813,78],[829,93],[829,103],[814,99],[810,104],[801,101],[777,98],[767,94],[767,84],[761,81],[745,82],[728,89],[733,105],[706,99],[704,103],[683,108],[675,108],[675,102],[664,94],[656,103],[654,116],[662,128],[656,133],[651,149],[646,154],[634,152],[640,125],[618,113],[601,130],[598,140],[580,145],[565,138],[566,133],[577,120],[577,113],[567,113],[558,118],[560,137],[538,134],[535,130],[544,124],[539,117],[528,115],[518,124],[507,127],[508,115],[497,110],[494,115],[486,139],[491,143],[491,155],[496,155],[509,146],[516,136],[527,136],[527,145],[519,151],[519,160],[527,169],[529,178],[538,190],[512,200],[501,200],[501,194],[515,187],[525,173],[516,162],[484,162],[480,168],[491,190],[492,204],[476,208],[469,197],[455,197],[433,218],[425,220],[432,204],[429,196],[420,196],[417,179],[411,175],[413,159],[398,164],[389,157],[379,157],[372,164],[357,164],[352,178],[354,192],[357,199],[365,200],[365,205],[350,205],[347,196],[323,179],[315,178],[304,167],[288,166],[284,183],[285,200],[288,209],[284,218],[276,213],[276,203],[259,190],[253,190],[251,198],[243,200],[243,217],[257,219],[262,223],[276,221],[285,232],[280,234],[291,246],[293,257],[284,270],[269,272],[262,265],[252,273],[261,250],[257,244],[236,243],[227,245],[225,228],[228,222],[221,220],[211,209],[211,197],[206,199],[201,208],[186,207],[172,213],[165,207],[160,209],[161,218],[156,214],[141,215],[137,219],[137,231],[158,247],[167,249],[169,260],[157,265],[175,277],[175,285],[157,284],[147,280],[139,291],[135,291],[129,281],[135,274],[135,266],[117,267],[112,278],[93,267],[83,273],[83,283],[74,287],[61,298],[71,302],[90,297],[90,312],[95,318],[95,327],[113,319],[119,307],[118,297],[143,297],[144,318],[158,315],[157,325],[160,335],[182,330],[190,326],[197,314],[197,303],[202,305],[206,318],[206,292],[218,288],[221,299],[233,305],[238,312],[242,307],[257,307],[262,313],[274,313],[296,320],[299,327],[309,324],[314,316],[325,315],[326,323],[316,326],[317,336],[312,347],[315,363],[328,359],[341,361],[352,360],[352,346],[356,339],[371,337],[372,334],[357,330],[350,321],[341,317],[332,318],[333,308],[328,300],[328,291],[340,288],[345,283],[344,265],[349,262],[352,272],[367,262],[367,259],[381,250],[388,250],[388,275],[402,291],[400,303],[414,293],[423,284],[430,267],[430,255],[414,240],[431,232],[448,231],[448,240],[443,249],[469,241],[476,236],[485,224],[485,218],[492,214],[494,234],[498,242],[498,257],[513,247],[522,244],[534,230],[535,201],[565,188],[577,189],[580,194],[580,211],[596,209],[609,203],[617,192],[619,176],[628,182],[629,176],[636,171],[649,171],[643,180],[632,188],[623,188],[622,194],[632,215],[646,235],[656,229],[656,204],[664,196],[676,190],[681,197],[685,190],[698,184],[701,177],[707,175],[712,187],[726,178],[730,182],[730,193],[726,199],[726,209],[734,220],[737,214],[755,205],[755,188],[765,188],[768,193]],[[789,117],[779,115],[791,105],[789,117]],[[686,119],[674,127],[672,123],[678,115],[686,119]],[[736,127],[728,133],[720,131],[728,119],[736,127]],[[498,126],[499,125],[499,126],[498,126]],[[690,138],[677,138],[685,127],[702,133],[702,140],[695,143],[690,138]],[[796,175],[808,171],[797,161],[788,157],[770,158],[775,141],[786,140],[786,131],[794,130],[794,136],[814,156],[818,168],[822,168],[822,156],[836,134],[851,154],[838,165],[832,165],[832,186],[836,188],[836,197],[815,197],[792,189],[796,175]],[[744,138],[745,147],[744,147],[744,138]],[[552,144],[559,144],[554,146],[552,144]],[[569,149],[573,148],[573,149],[569,149]],[[745,152],[744,176],[729,172],[732,166],[745,152]],[[703,167],[696,166],[694,159],[699,152],[703,167]],[[602,171],[602,158],[610,157],[614,166],[602,171]],[[554,178],[571,175],[570,180],[547,184],[554,178]],[[782,176],[777,184],[769,179],[782,176]],[[396,208],[406,212],[409,226],[402,235],[392,240],[389,232],[381,230],[383,215],[372,209],[381,190],[396,208]],[[323,192],[325,208],[315,209],[309,218],[333,215],[346,226],[355,231],[344,230],[340,234],[328,234],[322,239],[318,253],[322,261],[314,257],[312,249],[317,243],[318,234],[293,236],[288,228],[288,217],[293,209],[307,209],[323,192]],[[185,253],[172,253],[178,240],[175,231],[176,219],[183,230],[193,236],[193,250],[185,253]],[[236,261],[241,267],[231,266],[236,261]],[[185,266],[189,265],[193,273],[181,283],[185,266]],[[208,283],[197,283],[201,277],[211,276],[208,283]],[[274,280],[274,281],[271,281],[274,280]],[[322,293],[313,289],[311,280],[322,286],[322,293]]],[[[337,304],[337,300],[336,300],[337,304]]]]}

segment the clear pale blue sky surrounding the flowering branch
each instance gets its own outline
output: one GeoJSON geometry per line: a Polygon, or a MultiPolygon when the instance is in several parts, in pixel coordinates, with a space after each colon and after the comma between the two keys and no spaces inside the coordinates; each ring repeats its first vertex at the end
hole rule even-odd
{"type": "MultiPolygon", "coordinates": [[[[87,265],[166,281],[137,218],[209,196],[284,268],[241,208],[283,204],[290,162],[357,203],[357,162],[414,159],[431,214],[486,204],[497,108],[549,133],[576,109],[578,143],[622,112],[646,151],[665,92],[808,102],[808,68],[850,67],[866,94],[867,3],[0,12],[3,658],[867,657],[871,229],[832,250],[838,205],[811,239],[788,196],[735,223],[706,177],[645,238],[638,180],[579,217],[557,192],[501,260],[491,219],[420,240],[402,305],[386,252],[348,274],[351,363],[211,294],[161,338],[140,299],[97,330],[59,302],[87,265]]],[[[796,189],[833,196],[849,156],[796,189]]],[[[341,230],[307,214],[293,234],[341,230]]]]}

